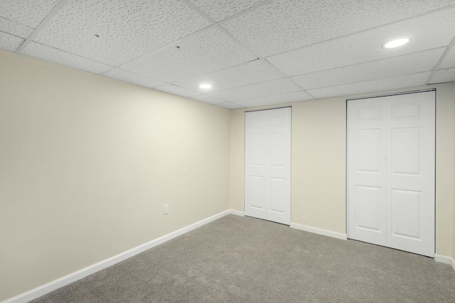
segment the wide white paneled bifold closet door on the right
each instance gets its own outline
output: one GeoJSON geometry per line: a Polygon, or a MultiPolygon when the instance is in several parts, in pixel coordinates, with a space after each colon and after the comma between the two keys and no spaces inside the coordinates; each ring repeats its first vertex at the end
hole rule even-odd
{"type": "Polygon", "coordinates": [[[348,237],[434,257],[435,92],[348,101],[348,237]]]}

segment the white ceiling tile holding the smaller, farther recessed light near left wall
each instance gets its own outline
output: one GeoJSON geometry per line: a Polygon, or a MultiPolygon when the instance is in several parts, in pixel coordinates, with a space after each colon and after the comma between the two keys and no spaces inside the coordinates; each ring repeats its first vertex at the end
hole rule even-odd
{"type": "Polygon", "coordinates": [[[232,87],[242,87],[247,84],[266,82],[273,79],[282,78],[283,75],[266,62],[255,60],[242,65],[228,67],[225,70],[210,72],[209,74],[192,77],[183,81],[176,82],[178,86],[193,89],[198,92],[206,93],[207,89],[199,87],[202,83],[210,83],[210,92],[230,89],[232,87]]]}

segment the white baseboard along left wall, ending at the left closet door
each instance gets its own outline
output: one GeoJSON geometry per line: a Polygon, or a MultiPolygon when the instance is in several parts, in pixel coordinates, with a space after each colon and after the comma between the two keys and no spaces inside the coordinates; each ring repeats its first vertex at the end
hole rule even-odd
{"type": "MultiPolygon", "coordinates": [[[[236,214],[238,216],[242,216],[241,211],[235,211],[229,209],[227,211],[220,212],[220,214],[215,214],[215,216],[210,216],[207,219],[203,219],[201,221],[196,222],[195,224],[188,225],[177,231],[173,231],[172,233],[168,233],[165,236],[160,238],[156,238],[150,242],[144,243],[140,246],[132,248],[130,250],[124,251],[123,253],[119,253],[118,255],[114,255],[111,258],[107,258],[106,260],[102,260],[98,263],[93,265],[87,266],[86,268],[82,268],[82,270],[77,270],[76,272],[70,273],[69,275],[65,275],[64,277],[60,277],[57,280],[53,280],[51,282],[46,283],[45,285],[41,285],[39,287],[34,288],[33,290],[29,290],[28,292],[23,292],[22,294],[18,294],[16,297],[11,297],[6,299],[1,303],[26,303],[33,299],[43,296],[44,294],[48,294],[54,290],[57,290],[60,287],[73,283],[77,280],[82,279],[83,277],[87,277],[87,275],[92,275],[93,273],[108,268],[114,264],[117,264],[127,258],[131,258],[134,255],[144,252],[150,248],[155,246],[159,246],[161,243],[169,241],[173,238],[183,235],[183,233],[188,233],[188,231],[192,231],[200,226],[208,224],[216,219],[220,219],[223,216],[228,214],[236,214]]],[[[244,214],[245,215],[245,214],[244,214]]]]}

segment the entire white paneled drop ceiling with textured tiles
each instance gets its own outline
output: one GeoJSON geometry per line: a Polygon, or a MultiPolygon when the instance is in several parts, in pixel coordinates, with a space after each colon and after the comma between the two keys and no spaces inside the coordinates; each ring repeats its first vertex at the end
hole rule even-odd
{"type": "Polygon", "coordinates": [[[1,0],[0,48],[237,109],[454,82],[454,16],[455,0],[1,0]]]}

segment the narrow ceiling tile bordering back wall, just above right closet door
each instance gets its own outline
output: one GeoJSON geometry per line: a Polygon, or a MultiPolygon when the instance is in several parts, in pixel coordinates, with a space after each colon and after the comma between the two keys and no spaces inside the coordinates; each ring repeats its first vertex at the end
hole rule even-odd
{"type": "Polygon", "coordinates": [[[379,79],[366,82],[325,87],[322,89],[310,89],[307,91],[317,99],[348,96],[351,94],[363,94],[368,92],[381,92],[388,89],[400,89],[404,87],[416,87],[424,85],[431,72],[420,72],[414,75],[405,75],[387,79],[379,79]]]}

